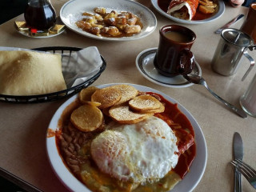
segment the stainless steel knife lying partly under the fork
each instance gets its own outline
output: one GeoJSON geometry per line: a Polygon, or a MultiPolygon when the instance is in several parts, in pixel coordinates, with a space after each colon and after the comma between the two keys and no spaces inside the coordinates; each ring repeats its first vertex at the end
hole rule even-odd
{"type": "MultiPolygon", "coordinates": [[[[238,132],[234,133],[233,151],[234,151],[234,159],[239,159],[242,161],[242,158],[243,158],[242,138],[240,134],[238,134],[238,132]]],[[[234,192],[242,192],[241,174],[238,172],[236,168],[234,169],[234,192]]]]}

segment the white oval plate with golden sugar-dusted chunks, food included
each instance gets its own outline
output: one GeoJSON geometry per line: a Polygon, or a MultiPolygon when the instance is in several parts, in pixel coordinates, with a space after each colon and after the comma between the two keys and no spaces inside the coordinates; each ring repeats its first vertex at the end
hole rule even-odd
{"type": "Polygon", "coordinates": [[[157,19],[142,4],[130,0],[70,0],[60,18],[74,32],[105,41],[130,41],[151,34],[157,19]]]}

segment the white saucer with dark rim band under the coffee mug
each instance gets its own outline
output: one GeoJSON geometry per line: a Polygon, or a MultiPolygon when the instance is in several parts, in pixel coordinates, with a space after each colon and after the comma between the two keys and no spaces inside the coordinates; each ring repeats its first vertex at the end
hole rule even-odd
{"type": "MultiPolygon", "coordinates": [[[[150,48],[147,50],[143,50],[140,54],[138,54],[136,58],[136,66],[138,71],[150,82],[154,82],[160,86],[168,86],[168,87],[187,87],[192,86],[194,83],[186,81],[182,75],[178,75],[174,78],[168,78],[158,73],[158,70],[154,68],[154,56],[157,52],[158,48],[150,48]]],[[[198,64],[195,62],[194,69],[191,74],[202,75],[202,70],[198,64]]]]}

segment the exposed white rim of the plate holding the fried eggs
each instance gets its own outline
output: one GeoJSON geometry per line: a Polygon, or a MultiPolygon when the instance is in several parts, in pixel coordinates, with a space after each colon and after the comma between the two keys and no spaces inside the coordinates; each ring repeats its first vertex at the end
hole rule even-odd
{"type": "MultiPolygon", "coordinates": [[[[122,83],[124,84],[124,83],[122,83]]],[[[106,86],[113,86],[116,84],[105,84],[102,86],[98,86],[98,88],[103,88],[106,86]]],[[[195,134],[195,142],[196,142],[196,156],[194,158],[194,162],[190,166],[190,171],[186,174],[185,178],[182,179],[181,182],[178,182],[174,189],[171,192],[189,192],[194,190],[194,188],[200,182],[202,175],[206,169],[206,161],[207,161],[207,147],[206,140],[204,135],[202,134],[202,130],[198,125],[198,122],[194,119],[194,117],[190,114],[188,110],[182,105],[180,105],[173,98],[170,98],[168,95],[163,94],[158,90],[154,90],[150,87],[139,86],[134,84],[129,84],[134,86],[136,89],[141,91],[150,91],[157,94],[161,94],[164,98],[172,103],[178,104],[178,109],[182,111],[183,114],[186,115],[186,118],[190,120],[191,125],[194,128],[195,134]]],[[[72,98],[68,99],[66,102],[62,104],[54,114],[53,118],[50,121],[49,128],[50,130],[58,130],[58,119],[61,117],[63,110],[65,110],[66,106],[70,105],[71,102],[78,97],[78,94],[74,95],[72,98]]],[[[66,168],[62,161],[62,157],[58,154],[58,149],[56,146],[55,137],[48,138],[46,135],[46,150],[48,154],[48,158],[50,160],[50,165],[52,166],[55,174],[57,174],[60,181],[66,186],[69,190],[75,192],[90,192],[90,190],[82,184],[77,178],[74,177],[73,174],[70,173],[70,170],[66,168]]]]}

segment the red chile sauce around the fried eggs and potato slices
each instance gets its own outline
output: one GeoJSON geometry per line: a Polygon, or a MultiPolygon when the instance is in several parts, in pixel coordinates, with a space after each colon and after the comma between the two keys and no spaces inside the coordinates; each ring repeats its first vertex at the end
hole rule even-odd
{"type": "MultiPolygon", "coordinates": [[[[170,125],[172,130],[174,130],[175,135],[178,137],[178,150],[179,151],[183,150],[183,148],[186,146],[187,142],[191,142],[190,138],[191,137],[194,138],[194,130],[193,130],[193,126],[191,125],[190,121],[178,109],[177,104],[167,101],[160,94],[155,94],[152,92],[146,92],[146,94],[151,94],[151,95],[155,96],[156,98],[158,98],[161,102],[165,103],[166,110],[161,114],[156,114],[155,116],[159,115],[162,118],[162,120],[164,120],[165,122],[167,122],[168,125],[170,125]],[[172,123],[174,125],[176,125],[176,128],[175,128],[175,126],[172,126],[172,123]],[[179,128],[177,128],[177,125],[179,125],[179,128]],[[188,132],[190,134],[187,134],[188,132]],[[183,138],[183,136],[185,136],[185,138],[183,138]],[[188,140],[190,140],[190,141],[188,141],[188,140]]],[[[68,122],[70,122],[70,114],[72,113],[72,111],[74,109],[78,108],[78,106],[80,106],[80,105],[82,105],[82,104],[78,101],[78,99],[76,99],[74,102],[72,102],[69,106],[66,107],[66,109],[62,112],[61,118],[58,120],[58,127],[60,129],[56,130],[55,134],[52,133],[53,130],[51,130],[50,128],[48,129],[48,132],[49,132],[48,137],[53,137],[54,135],[56,136],[55,137],[56,146],[58,148],[58,154],[61,157],[62,157],[62,153],[61,153],[61,149],[59,148],[59,138],[58,137],[60,134],[62,134],[62,126],[65,126],[68,124],[68,122]]],[[[180,155],[180,157],[178,158],[178,164],[173,170],[181,178],[184,178],[186,173],[189,171],[190,165],[193,162],[195,154],[196,154],[196,146],[194,143],[194,139],[192,139],[192,140],[193,141],[190,143],[190,145],[192,145],[192,146],[190,146],[190,148],[188,150],[186,150],[185,153],[180,155]]],[[[63,157],[62,157],[62,161],[66,165],[66,167],[68,167],[63,157]]],[[[78,175],[74,174],[74,176],[78,178],[78,175]]],[[[81,178],[78,178],[78,179],[82,182],[81,178]]]]}

